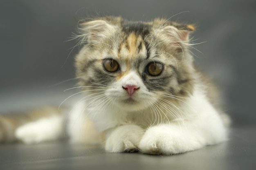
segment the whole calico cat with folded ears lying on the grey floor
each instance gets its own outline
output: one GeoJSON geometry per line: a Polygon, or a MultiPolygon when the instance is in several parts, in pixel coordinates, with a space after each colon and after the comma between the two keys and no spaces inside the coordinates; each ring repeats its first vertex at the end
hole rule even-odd
{"type": "Polygon", "coordinates": [[[226,141],[229,117],[195,66],[193,24],[106,16],[79,22],[76,76],[85,97],[65,113],[45,108],[0,116],[0,140],[27,144],[62,137],[108,152],[173,155],[226,141]]]}

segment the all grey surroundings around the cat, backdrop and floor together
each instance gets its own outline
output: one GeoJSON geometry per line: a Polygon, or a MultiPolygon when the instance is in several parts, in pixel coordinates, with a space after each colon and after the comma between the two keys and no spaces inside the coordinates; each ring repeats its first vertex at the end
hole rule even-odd
{"type": "MultiPolygon", "coordinates": [[[[213,77],[233,119],[229,141],[174,156],[107,153],[56,141],[0,144],[1,170],[255,170],[255,0],[1,0],[0,113],[58,106],[77,91],[70,40],[84,15],[195,22],[195,60],[213,77]],[[69,55],[70,54],[70,55],[69,55]]],[[[64,104],[71,105],[74,97],[64,104]]]]}

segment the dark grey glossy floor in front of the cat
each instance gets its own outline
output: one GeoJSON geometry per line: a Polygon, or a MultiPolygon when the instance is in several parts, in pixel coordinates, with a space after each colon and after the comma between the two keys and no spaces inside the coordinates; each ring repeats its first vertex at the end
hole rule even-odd
{"type": "Polygon", "coordinates": [[[181,155],[108,153],[66,141],[0,146],[1,170],[255,170],[256,127],[232,128],[229,141],[181,155]]]}

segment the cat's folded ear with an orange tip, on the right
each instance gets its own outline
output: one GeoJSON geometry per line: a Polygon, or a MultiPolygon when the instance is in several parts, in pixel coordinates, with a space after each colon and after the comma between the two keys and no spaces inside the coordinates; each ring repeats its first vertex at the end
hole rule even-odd
{"type": "Polygon", "coordinates": [[[166,26],[162,31],[168,38],[175,38],[178,42],[188,42],[189,34],[195,31],[195,26],[193,24],[166,26]]]}

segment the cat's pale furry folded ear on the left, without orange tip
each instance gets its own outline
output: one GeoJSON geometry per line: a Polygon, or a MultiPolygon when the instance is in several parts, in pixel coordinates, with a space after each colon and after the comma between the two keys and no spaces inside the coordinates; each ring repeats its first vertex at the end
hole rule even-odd
{"type": "Polygon", "coordinates": [[[115,31],[115,26],[104,20],[83,20],[79,22],[79,38],[83,42],[97,43],[108,38],[115,31]]]}

